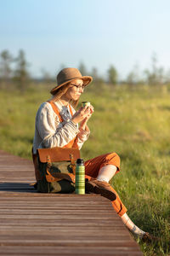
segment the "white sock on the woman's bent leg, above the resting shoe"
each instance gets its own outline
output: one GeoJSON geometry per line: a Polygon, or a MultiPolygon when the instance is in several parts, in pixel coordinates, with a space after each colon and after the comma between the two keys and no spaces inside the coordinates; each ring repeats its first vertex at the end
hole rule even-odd
{"type": "Polygon", "coordinates": [[[107,165],[107,166],[103,166],[100,170],[99,170],[99,174],[97,180],[99,181],[104,181],[106,183],[109,183],[109,181],[111,180],[111,177],[113,177],[116,173],[116,166],[112,166],[112,165],[107,165]]]}

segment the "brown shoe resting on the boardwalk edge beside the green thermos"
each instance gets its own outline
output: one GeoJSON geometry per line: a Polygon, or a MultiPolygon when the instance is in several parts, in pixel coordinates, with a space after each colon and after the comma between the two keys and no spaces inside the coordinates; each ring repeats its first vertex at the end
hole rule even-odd
{"type": "Polygon", "coordinates": [[[116,200],[116,195],[112,191],[111,185],[109,183],[93,179],[86,182],[85,188],[87,193],[99,194],[111,201],[116,200]]]}

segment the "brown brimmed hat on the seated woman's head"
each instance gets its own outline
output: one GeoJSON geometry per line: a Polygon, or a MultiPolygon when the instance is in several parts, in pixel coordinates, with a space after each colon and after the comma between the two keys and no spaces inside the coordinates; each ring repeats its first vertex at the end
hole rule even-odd
{"type": "Polygon", "coordinates": [[[80,73],[77,68],[67,67],[62,69],[57,75],[57,86],[55,86],[50,93],[54,95],[56,90],[61,86],[68,84],[75,79],[82,79],[84,85],[88,85],[93,80],[90,76],[82,76],[82,73],[80,73]]]}

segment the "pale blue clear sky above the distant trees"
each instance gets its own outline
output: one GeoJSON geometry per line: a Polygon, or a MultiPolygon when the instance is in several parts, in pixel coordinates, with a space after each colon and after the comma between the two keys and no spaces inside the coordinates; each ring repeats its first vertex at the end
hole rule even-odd
{"type": "Polygon", "coordinates": [[[84,63],[120,78],[133,67],[170,69],[169,0],[0,0],[0,52],[26,52],[34,77],[84,63]]]}

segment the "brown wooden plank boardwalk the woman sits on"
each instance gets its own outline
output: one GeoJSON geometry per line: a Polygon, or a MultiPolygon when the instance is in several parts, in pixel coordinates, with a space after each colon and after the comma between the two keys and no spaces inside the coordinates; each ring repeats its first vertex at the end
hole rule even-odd
{"type": "Polygon", "coordinates": [[[99,195],[37,193],[30,160],[0,151],[0,255],[143,255],[99,195]]]}

